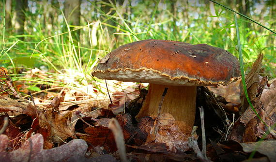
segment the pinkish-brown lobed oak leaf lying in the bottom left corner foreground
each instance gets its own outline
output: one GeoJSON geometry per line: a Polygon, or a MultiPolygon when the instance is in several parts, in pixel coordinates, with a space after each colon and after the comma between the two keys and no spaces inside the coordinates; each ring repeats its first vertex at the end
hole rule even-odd
{"type": "Polygon", "coordinates": [[[8,137],[0,135],[1,162],[116,162],[111,155],[87,159],[87,144],[84,140],[74,139],[68,144],[51,149],[43,149],[43,136],[34,134],[15,151],[7,152],[8,137]]]}

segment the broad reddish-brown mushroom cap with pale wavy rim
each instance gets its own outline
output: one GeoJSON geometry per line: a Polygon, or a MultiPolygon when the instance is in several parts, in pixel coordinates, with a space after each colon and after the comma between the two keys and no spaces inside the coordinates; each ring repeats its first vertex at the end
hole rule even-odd
{"type": "Polygon", "coordinates": [[[228,85],[240,77],[238,59],[207,44],[143,40],[107,54],[92,73],[100,79],[173,86],[228,85]]]}

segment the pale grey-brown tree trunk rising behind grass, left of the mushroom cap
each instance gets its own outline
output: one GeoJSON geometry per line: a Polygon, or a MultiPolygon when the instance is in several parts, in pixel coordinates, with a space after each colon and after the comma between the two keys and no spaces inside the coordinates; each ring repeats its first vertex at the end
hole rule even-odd
{"type": "MultiPolygon", "coordinates": [[[[68,25],[80,25],[80,3],[81,0],[65,0],[64,2],[64,15],[68,25]]],[[[73,28],[70,28],[72,30],[73,28]]],[[[74,40],[79,41],[80,30],[72,32],[74,40]]]]}

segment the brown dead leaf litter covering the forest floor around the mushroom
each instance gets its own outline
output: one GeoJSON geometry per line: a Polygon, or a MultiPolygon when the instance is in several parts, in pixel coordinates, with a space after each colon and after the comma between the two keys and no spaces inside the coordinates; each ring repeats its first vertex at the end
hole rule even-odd
{"type": "MultiPolygon", "coordinates": [[[[1,84],[0,128],[5,131],[0,135],[0,157],[3,162],[239,162],[256,151],[252,160],[272,162],[276,158],[276,81],[259,75],[261,59],[262,55],[245,81],[249,99],[266,124],[246,103],[240,81],[226,87],[210,86],[209,90],[199,87],[197,107],[204,108],[205,132],[201,135],[197,112],[191,137],[184,136],[168,113],[136,121],[147,84],[107,81],[112,104],[106,85],[99,82],[74,81],[75,87],[37,84],[42,90],[32,91],[28,97],[24,96],[26,83],[13,82],[2,68],[1,78],[6,79],[0,80],[5,83],[1,84]],[[11,85],[15,88],[9,89],[11,85]],[[4,117],[9,117],[7,126],[4,117]],[[199,154],[205,133],[207,159],[202,159],[199,154]]],[[[25,75],[49,77],[39,69],[25,75]]]]}

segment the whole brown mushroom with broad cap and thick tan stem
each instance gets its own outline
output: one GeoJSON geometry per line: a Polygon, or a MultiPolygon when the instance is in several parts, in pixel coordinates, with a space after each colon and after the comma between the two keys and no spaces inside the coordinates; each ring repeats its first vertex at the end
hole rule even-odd
{"type": "Polygon", "coordinates": [[[240,78],[238,59],[207,44],[142,40],[107,54],[94,76],[125,82],[148,82],[149,90],[137,119],[156,116],[164,88],[169,88],[161,113],[171,114],[187,136],[196,112],[197,86],[228,85],[240,78]]]}

